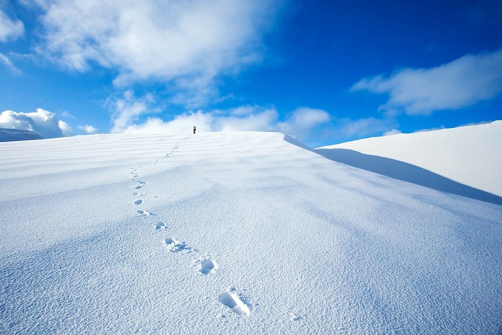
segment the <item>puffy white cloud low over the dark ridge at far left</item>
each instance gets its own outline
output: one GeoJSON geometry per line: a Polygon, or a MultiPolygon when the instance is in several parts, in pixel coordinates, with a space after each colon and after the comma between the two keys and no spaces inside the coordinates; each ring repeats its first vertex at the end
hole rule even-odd
{"type": "Polygon", "coordinates": [[[66,122],[42,108],[30,113],[5,110],[0,114],[0,127],[29,130],[43,138],[71,135],[71,128],[66,122]]]}

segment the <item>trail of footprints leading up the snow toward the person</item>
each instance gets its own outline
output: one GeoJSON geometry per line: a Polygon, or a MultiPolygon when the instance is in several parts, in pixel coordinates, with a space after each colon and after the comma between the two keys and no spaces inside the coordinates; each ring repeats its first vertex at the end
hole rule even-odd
{"type": "MultiPolygon", "coordinates": [[[[178,144],[176,144],[171,150],[171,152],[165,154],[161,158],[156,159],[153,162],[153,165],[159,164],[162,160],[165,160],[173,153],[178,152],[178,149],[179,146],[178,144]]],[[[140,190],[143,191],[143,189],[146,187],[146,182],[137,179],[140,176],[139,168],[141,167],[143,166],[131,168],[132,170],[131,174],[133,175],[133,182],[135,182],[135,185],[133,186],[134,189],[133,196],[135,197],[136,196],[143,197],[144,195],[146,195],[146,193],[138,192],[140,190]]],[[[133,203],[135,205],[143,205],[145,201],[144,199],[135,199],[133,203]]],[[[152,212],[149,212],[145,209],[136,210],[136,214],[143,217],[155,215],[152,212]]],[[[154,225],[154,229],[157,231],[167,231],[169,227],[165,221],[158,221],[157,224],[154,225]]],[[[162,240],[162,244],[166,247],[167,251],[171,253],[187,254],[191,252],[198,252],[198,250],[190,247],[184,241],[178,240],[177,238],[174,237],[164,238],[162,240]]],[[[211,256],[208,255],[202,256],[199,259],[195,260],[194,267],[197,273],[201,276],[209,276],[211,274],[214,274],[219,269],[219,266],[216,263],[216,261],[211,256]]],[[[224,306],[230,308],[237,315],[247,316],[250,314],[250,310],[248,304],[246,304],[245,298],[240,293],[238,293],[234,287],[229,287],[225,292],[219,294],[218,301],[222,303],[224,306]]],[[[225,318],[226,316],[222,315],[222,317],[225,318]]]]}

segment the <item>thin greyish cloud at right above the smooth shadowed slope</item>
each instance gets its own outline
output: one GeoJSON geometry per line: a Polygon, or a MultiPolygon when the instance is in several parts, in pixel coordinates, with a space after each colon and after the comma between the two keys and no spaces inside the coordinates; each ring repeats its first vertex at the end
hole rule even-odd
{"type": "Polygon", "coordinates": [[[428,69],[400,70],[389,78],[364,78],[352,91],[387,93],[380,106],[388,115],[429,115],[434,110],[459,109],[502,92],[502,51],[465,55],[428,69]]]}

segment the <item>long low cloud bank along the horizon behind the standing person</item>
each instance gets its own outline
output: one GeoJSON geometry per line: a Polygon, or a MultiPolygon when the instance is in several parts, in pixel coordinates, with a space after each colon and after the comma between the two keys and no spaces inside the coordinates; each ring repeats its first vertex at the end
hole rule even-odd
{"type": "Polygon", "coordinates": [[[124,133],[134,134],[179,134],[191,132],[229,131],[274,131],[294,135],[302,141],[324,137],[353,137],[376,135],[393,130],[398,126],[394,119],[364,118],[334,120],[327,111],[310,107],[299,107],[289,117],[281,120],[275,107],[243,105],[229,109],[190,111],[175,116],[170,121],[148,118],[143,123],[131,124],[124,133]]]}

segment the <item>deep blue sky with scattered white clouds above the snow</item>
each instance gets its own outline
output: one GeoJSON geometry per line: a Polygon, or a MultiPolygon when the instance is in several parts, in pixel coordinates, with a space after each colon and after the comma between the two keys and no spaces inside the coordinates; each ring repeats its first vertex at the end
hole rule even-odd
{"type": "Polygon", "coordinates": [[[44,137],[196,125],[320,146],[502,118],[497,1],[0,0],[0,11],[0,113],[12,111],[0,127],[44,137]]]}

